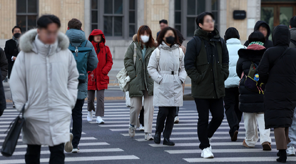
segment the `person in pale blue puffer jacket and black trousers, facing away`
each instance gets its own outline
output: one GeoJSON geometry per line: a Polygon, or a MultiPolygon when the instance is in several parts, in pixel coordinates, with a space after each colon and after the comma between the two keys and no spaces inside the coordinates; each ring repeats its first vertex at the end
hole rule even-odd
{"type": "Polygon", "coordinates": [[[237,52],[239,49],[246,49],[246,47],[241,45],[238,31],[235,28],[228,28],[226,30],[224,40],[229,53],[229,76],[225,81],[224,108],[230,127],[229,134],[231,140],[236,141],[242,116],[242,112],[238,109],[238,84],[240,79],[236,74],[237,52]]]}

